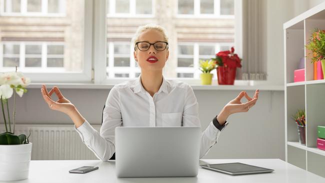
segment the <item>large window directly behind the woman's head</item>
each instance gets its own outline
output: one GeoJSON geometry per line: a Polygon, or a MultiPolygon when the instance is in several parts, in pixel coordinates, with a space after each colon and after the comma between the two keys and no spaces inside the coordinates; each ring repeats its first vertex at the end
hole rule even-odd
{"type": "MultiPolygon", "coordinates": [[[[140,73],[140,68],[133,58],[133,45],[130,45],[132,36],[139,25],[157,23],[166,28],[169,36],[169,58],[163,70],[166,78],[199,79],[199,59],[209,59],[219,50],[228,50],[234,45],[234,17],[221,16],[220,8],[227,8],[231,12],[233,0],[177,0],[151,1],[122,0],[124,6],[138,7],[137,3],[149,4],[156,7],[151,12],[152,17],[127,17],[121,22],[120,17],[112,16],[117,8],[116,0],[107,0],[106,10],[111,16],[106,17],[106,77],[104,82],[120,82],[119,79],[133,79],[140,73]],[[231,6],[232,2],[232,6],[231,6]],[[218,4],[218,5],[217,5],[218,4]],[[114,7],[111,7],[113,5],[114,7]],[[169,7],[169,8],[164,8],[169,7]],[[159,9],[158,9],[159,8],[159,9]],[[177,16],[174,9],[178,8],[186,17],[177,16]],[[197,13],[198,12],[198,13],[197,13]],[[172,15],[174,13],[174,15],[172,15]],[[205,15],[208,16],[205,16],[205,15]],[[203,16],[204,15],[204,16],[203,16]],[[226,19],[224,19],[226,17],[226,19]],[[199,20],[198,20],[199,19],[199,20]]],[[[136,8],[139,10],[138,8],[136,8]]],[[[143,10],[149,8],[142,8],[143,10]]],[[[133,12],[138,12],[134,10],[133,12]]],[[[139,10],[140,11],[140,10],[139,10]]],[[[132,12],[127,10],[124,13],[132,12]]],[[[223,12],[223,11],[222,11],[223,12]]],[[[233,12],[233,9],[232,9],[233,12]]],[[[120,12],[122,13],[122,12],[120,12]]],[[[145,13],[141,10],[141,13],[145,13]]],[[[150,13],[149,11],[147,13],[150,13]]],[[[213,72],[216,77],[215,72],[213,72]]]]}

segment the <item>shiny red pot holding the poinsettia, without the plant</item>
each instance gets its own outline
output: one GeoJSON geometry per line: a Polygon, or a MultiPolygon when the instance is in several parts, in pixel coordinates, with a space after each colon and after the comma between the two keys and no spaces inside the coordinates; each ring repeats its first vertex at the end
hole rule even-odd
{"type": "Polygon", "coordinates": [[[232,84],[236,77],[236,68],[237,67],[225,67],[218,66],[216,67],[216,74],[218,76],[218,84],[232,84]]]}

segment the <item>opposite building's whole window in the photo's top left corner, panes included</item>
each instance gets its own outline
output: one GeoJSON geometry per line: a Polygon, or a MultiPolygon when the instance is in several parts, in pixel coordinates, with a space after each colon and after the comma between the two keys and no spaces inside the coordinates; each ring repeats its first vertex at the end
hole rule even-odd
{"type": "Polygon", "coordinates": [[[2,16],[64,16],[65,0],[0,0],[2,16]]]}

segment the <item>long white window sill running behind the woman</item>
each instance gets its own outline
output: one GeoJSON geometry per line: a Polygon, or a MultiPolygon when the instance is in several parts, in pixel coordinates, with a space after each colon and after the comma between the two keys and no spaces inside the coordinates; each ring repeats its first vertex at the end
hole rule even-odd
{"type": "MultiPolygon", "coordinates": [[[[46,84],[46,87],[52,88],[57,86],[64,89],[111,89],[115,84],[95,84],[95,83],[31,83],[28,88],[41,88],[41,84],[46,84]]],[[[269,91],[283,91],[284,85],[270,85],[270,84],[235,84],[235,85],[200,85],[190,84],[193,90],[269,90],[269,91]]]]}

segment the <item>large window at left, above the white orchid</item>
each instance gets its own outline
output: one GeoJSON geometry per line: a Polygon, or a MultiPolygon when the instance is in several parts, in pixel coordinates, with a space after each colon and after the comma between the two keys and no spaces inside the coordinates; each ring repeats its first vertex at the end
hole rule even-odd
{"type": "Polygon", "coordinates": [[[84,8],[89,3],[0,0],[1,72],[18,66],[33,82],[90,82],[92,40],[84,27],[91,24],[91,8],[84,8]]]}

